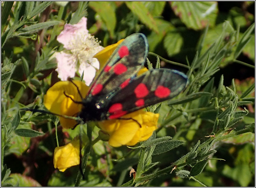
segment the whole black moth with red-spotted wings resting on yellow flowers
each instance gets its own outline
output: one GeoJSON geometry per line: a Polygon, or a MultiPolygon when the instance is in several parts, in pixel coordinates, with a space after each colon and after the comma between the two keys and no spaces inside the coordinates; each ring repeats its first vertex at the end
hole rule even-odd
{"type": "Polygon", "coordinates": [[[187,76],[177,70],[151,69],[140,76],[149,47],[146,36],[132,34],[112,53],[94,79],[78,115],[83,121],[118,119],[178,95],[187,85],[187,76]]]}

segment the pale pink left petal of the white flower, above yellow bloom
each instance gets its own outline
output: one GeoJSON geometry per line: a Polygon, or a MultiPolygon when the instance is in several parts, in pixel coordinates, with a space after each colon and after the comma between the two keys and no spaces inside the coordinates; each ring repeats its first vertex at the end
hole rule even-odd
{"type": "Polygon", "coordinates": [[[66,81],[68,77],[74,77],[76,68],[75,62],[76,60],[70,54],[66,54],[64,52],[56,52],[55,58],[57,61],[56,71],[58,72],[58,77],[62,81],[66,81]]]}

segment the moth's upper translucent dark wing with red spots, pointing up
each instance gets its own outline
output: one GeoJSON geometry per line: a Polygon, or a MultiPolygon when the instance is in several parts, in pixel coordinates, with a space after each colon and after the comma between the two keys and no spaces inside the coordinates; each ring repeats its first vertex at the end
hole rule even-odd
{"type": "Polygon", "coordinates": [[[87,95],[105,96],[124,88],[144,65],[148,55],[148,40],[142,33],[124,39],[93,81],[87,95]]]}

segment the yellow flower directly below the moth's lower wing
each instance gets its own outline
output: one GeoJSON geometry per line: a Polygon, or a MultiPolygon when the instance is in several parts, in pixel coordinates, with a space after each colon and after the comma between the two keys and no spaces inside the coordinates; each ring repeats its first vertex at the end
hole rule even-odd
{"type": "Polygon", "coordinates": [[[109,134],[108,144],[113,147],[122,145],[134,146],[138,142],[147,140],[157,129],[159,114],[145,112],[143,109],[122,116],[122,118],[133,118],[130,120],[105,120],[99,122],[99,127],[109,134]]]}

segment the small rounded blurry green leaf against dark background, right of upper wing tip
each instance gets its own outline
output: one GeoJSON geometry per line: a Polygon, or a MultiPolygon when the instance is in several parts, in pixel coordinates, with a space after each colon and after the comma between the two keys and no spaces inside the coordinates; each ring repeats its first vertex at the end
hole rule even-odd
{"type": "Polygon", "coordinates": [[[168,56],[173,56],[180,52],[183,45],[183,37],[177,31],[169,32],[164,37],[163,45],[168,53],[168,56]]]}

